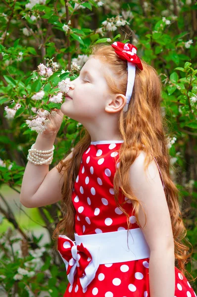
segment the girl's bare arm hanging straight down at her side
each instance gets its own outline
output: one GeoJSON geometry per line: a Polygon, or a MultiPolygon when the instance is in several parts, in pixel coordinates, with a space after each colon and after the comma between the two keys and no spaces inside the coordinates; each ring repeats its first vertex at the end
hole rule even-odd
{"type": "MultiPolygon", "coordinates": [[[[174,297],[175,256],[169,209],[157,165],[152,161],[145,172],[145,156],[146,153],[141,151],[129,173],[132,191],[147,215],[147,225],[142,231],[150,248],[150,296],[174,297]]],[[[141,206],[139,222],[143,228],[145,215],[141,206]]]]}

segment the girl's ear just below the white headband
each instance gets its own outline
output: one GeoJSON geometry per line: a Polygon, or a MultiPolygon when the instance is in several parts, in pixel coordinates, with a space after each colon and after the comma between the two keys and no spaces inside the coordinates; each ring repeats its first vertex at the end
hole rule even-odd
{"type": "Polygon", "coordinates": [[[123,94],[112,95],[106,102],[105,111],[109,113],[121,111],[126,103],[127,99],[123,94]]]}

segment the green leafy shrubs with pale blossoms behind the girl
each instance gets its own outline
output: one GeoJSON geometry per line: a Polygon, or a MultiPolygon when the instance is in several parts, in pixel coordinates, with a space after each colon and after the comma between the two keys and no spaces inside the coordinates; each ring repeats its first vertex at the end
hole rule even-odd
{"type": "MultiPolygon", "coordinates": [[[[4,296],[57,297],[66,289],[65,266],[52,251],[51,241],[41,247],[42,236],[35,236],[20,220],[24,212],[20,203],[16,216],[2,189],[6,185],[20,193],[28,149],[37,137],[25,122],[34,115],[32,107],[60,108],[60,103],[49,103],[48,96],[60,80],[78,75],[75,63],[82,67],[89,45],[98,41],[128,40],[161,76],[171,176],[181,191],[187,239],[194,247],[192,268],[189,262],[187,269],[197,275],[196,15],[195,0],[0,2],[0,284],[4,296]],[[46,58],[59,66],[47,81],[35,72],[46,58]],[[31,99],[43,89],[42,102],[31,99]],[[6,106],[12,110],[6,111],[6,106]]],[[[64,117],[49,169],[73,149],[81,128],[81,123],[64,117]]],[[[36,217],[51,235],[61,217],[59,203],[38,208],[29,219],[36,217]]],[[[191,284],[197,291],[197,284],[191,284]]]]}

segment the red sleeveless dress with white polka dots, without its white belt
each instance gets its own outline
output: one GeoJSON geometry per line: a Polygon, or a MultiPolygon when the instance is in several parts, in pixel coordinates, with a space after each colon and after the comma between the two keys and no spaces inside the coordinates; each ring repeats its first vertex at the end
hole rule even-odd
{"type": "MultiPolygon", "coordinates": [[[[114,232],[127,229],[126,216],[114,200],[113,177],[118,167],[118,150],[123,141],[91,142],[82,156],[74,189],[77,235],[114,232]]],[[[157,164],[158,165],[158,164],[157,164]]],[[[119,195],[121,203],[121,193],[119,195]]],[[[130,215],[132,229],[139,228],[132,203],[124,197],[124,208],[130,215]]],[[[59,237],[58,250],[63,254],[64,239],[59,237]]],[[[120,263],[100,264],[95,278],[86,290],[79,276],[68,283],[64,297],[150,297],[148,280],[149,258],[120,263]]],[[[67,272],[68,273],[68,272],[67,272]]],[[[197,297],[186,277],[175,267],[175,297],[197,297]]]]}

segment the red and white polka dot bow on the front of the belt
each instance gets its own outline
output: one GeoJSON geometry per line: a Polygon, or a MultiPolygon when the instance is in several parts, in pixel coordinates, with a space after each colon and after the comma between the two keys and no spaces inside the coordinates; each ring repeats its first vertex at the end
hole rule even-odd
{"type": "Polygon", "coordinates": [[[69,283],[73,285],[77,273],[85,290],[95,278],[99,267],[99,247],[92,245],[84,247],[83,243],[75,245],[75,242],[67,236],[59,235],[57,248],[65,263],[69,283]]]}

